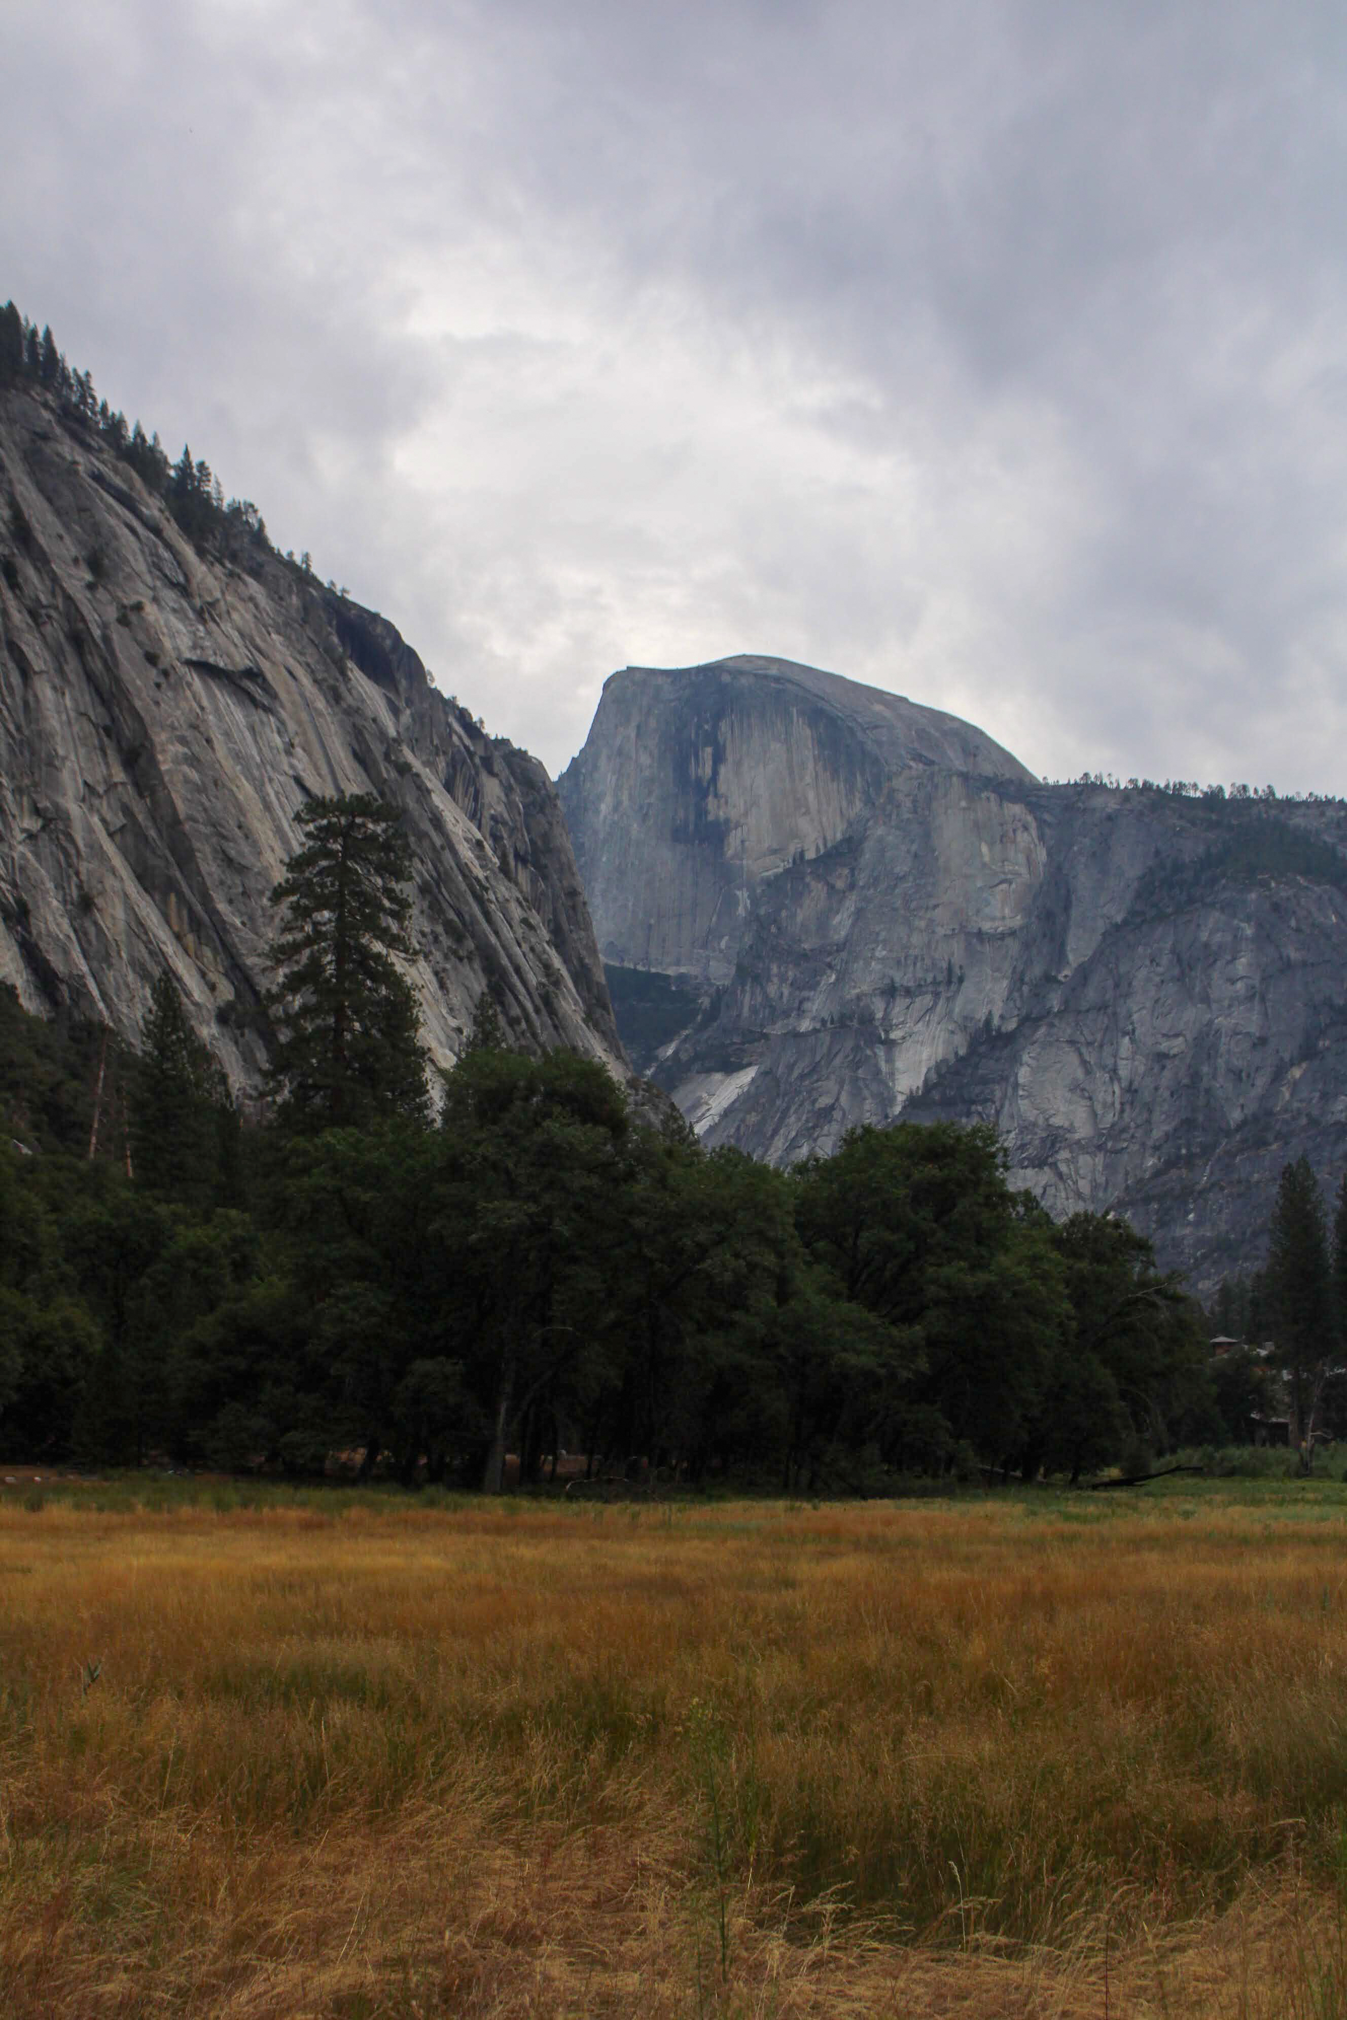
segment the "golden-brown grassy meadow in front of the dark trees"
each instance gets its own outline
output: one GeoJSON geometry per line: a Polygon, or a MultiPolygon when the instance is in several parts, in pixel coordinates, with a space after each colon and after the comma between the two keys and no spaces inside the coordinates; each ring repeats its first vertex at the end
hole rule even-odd
{"type": "Polygon", "coordinates": [[[0,1491],[0,2012],[1347,2016],[1347,1489],[1185,1489],[0,1491]]]}

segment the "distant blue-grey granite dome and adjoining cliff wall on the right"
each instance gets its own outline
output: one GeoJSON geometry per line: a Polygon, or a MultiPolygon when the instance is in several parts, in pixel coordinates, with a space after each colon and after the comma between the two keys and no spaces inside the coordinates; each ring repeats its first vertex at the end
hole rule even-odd
{"type": "Polygon", "coordinates": [[[1016,1184],[1204,1291],[1260,1260],[1288,1157],[1347,1166],[1339,804],[1042,786],[773,661],[614,675],[561,796],[606,960],[685,990],[632,1050],[707,1143],[988,1119],[1016,1184]]]}

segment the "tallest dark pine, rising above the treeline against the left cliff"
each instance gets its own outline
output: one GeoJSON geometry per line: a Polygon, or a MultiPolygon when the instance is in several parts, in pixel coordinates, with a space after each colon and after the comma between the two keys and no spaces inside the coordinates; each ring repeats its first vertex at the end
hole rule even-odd
{"type": "Polygon", "coordinates": [[[273,1093],[299,1129],[424,1121],[420,1012],[396,962],[414,953],[400,814],[374,794],[343,794],[297,818],[305,846],[271,893],[285,913],[271,947],[273,1093]]]}

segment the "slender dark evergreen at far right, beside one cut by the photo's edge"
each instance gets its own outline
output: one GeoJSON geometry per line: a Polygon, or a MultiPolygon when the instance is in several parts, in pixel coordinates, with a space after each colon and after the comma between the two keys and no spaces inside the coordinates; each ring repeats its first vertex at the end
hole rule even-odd
{"type": "Polygon", "coordinates": [[[1319,1398],[1335,1347],[1329,1230],[1309,1157],[1282,1168],[1268,1230],[1266,1299],[1290,1384],[1290,1440],[1309,1469],[1319,1398]]]}

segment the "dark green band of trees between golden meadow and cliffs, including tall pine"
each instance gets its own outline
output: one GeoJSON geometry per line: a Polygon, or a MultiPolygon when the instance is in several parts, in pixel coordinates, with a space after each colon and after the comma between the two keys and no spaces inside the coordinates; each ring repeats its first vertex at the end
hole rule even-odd
{"type": "Polygon", "coordinates": [[[988,1127],[775,1172],[491,998],[428,1099],[406,842],[315,800],[273,893],[271,1111],[164,976],[141,1044],[4,1000],[0,1448],[499,1489],[559,1454],[683,1479],[1078,1479],[1226,1438],[1200,1309],[1125,1222],[1056,1226],[988,1127]]]}

